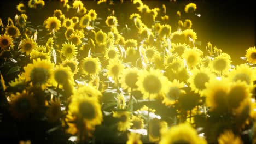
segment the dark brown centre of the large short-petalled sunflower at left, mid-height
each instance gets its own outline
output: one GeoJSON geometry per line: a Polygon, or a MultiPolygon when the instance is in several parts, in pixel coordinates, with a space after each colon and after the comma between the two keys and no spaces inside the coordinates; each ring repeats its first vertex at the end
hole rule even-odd
{"type": "Polygon", "coordinates": [[[33,84],[43,84],[48,80],[48,70],[44,68],[34,68],[31,71],[30,79],[33,84]]]}

